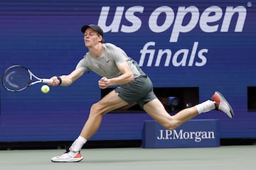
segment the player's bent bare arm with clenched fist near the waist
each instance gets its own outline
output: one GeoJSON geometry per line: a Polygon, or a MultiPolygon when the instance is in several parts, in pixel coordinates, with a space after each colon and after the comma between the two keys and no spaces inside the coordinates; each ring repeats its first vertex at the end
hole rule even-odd
{"type": "Polygon", "coordinates": [[[111,79],[102,77],[102,79],[100,79],[98,82],[100,89],[106,89],[107,86],[127,84],[129,82],[134,81],[134,74],[126,61],[119,63],[117,67],[120,70],[120,72],[122,72],[122,74],[119,77],[114,77],[111,79]]]}

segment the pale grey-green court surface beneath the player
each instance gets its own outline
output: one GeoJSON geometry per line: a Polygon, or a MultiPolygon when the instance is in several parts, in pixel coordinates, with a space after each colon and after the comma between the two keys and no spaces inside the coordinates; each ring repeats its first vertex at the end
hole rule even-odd
{"type": "Polygon", "coordinates": [[[62,152],[63,149],[1,150],[1,169],[256,169],[256,145],[172,149],[82,149],[84,159],[81,162],[50,162],[51,157],[62,152]]]}

